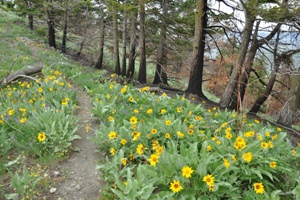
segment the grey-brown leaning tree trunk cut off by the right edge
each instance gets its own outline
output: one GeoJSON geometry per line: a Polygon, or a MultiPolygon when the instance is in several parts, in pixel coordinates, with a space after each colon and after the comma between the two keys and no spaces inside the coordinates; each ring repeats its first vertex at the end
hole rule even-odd
{"type": "Polygon", "coordinates": [[[283,108],[281,109],[278,124],[291,127],[296,119],[296,114],[300,108],[300,71],[291,75],[291,86],[289,97],[283,108]]]}

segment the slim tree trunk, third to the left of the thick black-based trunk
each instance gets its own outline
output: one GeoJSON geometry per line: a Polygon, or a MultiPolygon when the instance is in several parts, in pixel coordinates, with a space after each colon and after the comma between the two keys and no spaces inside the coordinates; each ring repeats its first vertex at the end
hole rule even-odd
{"type": "Polygon", "coordinates": [[[130,14],[130,50],[129,50],[129,64],[126,77],[129,79],[133,78],[135,68],[135,57],[136,57],[136,16],[137,13],[132,10],[130,14]]]}

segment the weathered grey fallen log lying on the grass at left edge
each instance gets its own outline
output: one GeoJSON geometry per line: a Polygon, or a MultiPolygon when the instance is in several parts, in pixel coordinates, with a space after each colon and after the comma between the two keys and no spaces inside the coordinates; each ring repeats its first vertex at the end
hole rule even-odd
{"type": "Polygon", "coordinates": [[[28,66],[28,67],[22,68],[18,71],[15,71],[11,74],[8,74],[6,77],[1,79],[0,86],[1,87],[6,87],[11,82],[13,82],[14,80],[17,80],[21,77],[22,78],[25,77],[25,78],[34,79],[34,78],[30,77],[30,75],[41,72],[42,68],[43,68],[43,66],[28,66]]]}

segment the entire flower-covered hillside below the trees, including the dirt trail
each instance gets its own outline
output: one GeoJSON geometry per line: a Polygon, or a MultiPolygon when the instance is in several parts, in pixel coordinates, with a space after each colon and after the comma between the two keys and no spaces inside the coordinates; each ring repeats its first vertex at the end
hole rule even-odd
{"type": "Polygon", "coordinates": [[[300,198],[282,128],[81,66],[1,9],[0,36],[1,77],[43,67],[1,88],[1,199],[300,198]]]}

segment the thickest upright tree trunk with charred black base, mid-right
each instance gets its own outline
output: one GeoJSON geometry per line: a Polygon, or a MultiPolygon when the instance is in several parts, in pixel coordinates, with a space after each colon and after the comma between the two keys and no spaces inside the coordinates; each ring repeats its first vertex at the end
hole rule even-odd
{"type": "Polygon", "coordinates": [[[207,0],[196,0],[195,36],[192,57],[192,70],[186,93],[205,98],[202,91],[205,37],[207,27],[207,0]]]}

